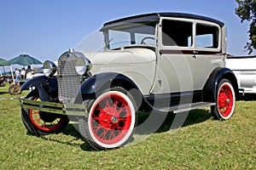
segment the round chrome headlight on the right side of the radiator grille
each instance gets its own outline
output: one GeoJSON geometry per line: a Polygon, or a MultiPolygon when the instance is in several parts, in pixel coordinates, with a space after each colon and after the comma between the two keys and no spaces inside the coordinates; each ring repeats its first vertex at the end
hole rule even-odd
{"type": "Polygon", "coordinates": [[[84,75],[91,69],[91,63],[90,60],[87,59],[84,54],[79,53],[79,52],[74,52],[77,56],[77,61],[75,64],[76,71],[79,75],[84,75]]]}

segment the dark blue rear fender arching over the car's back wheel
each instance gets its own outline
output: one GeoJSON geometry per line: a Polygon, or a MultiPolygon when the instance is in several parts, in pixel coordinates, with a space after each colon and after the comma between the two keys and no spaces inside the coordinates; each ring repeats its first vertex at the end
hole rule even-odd
{"type": "Polygon", "coordinates": [[[214,71],[212,71],[212,74],[208,78],[207,83],[203,88],[204,101],[215,102],[217,100],[218,83],[224,78],[228,79],[232,83],[232,86],[236,93],[236,98],[238,98],[238,84],[234,72],[226,67],[218,67],[214,71]]]}

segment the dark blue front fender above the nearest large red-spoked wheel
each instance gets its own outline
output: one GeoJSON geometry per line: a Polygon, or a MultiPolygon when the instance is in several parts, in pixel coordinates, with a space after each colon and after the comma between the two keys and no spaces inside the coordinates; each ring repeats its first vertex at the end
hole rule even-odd
{"type": "Polygon", "coordinates": [[[96,98],[103,91],[114,86],[125,88],[128,91],[131,88],[138,90],[137,85],[129,77],[115,72],[104,72],[84,81],[79,88],[79,95],[75,101],[81,103],[81,99],[84,101],[88,97],[96,98]]]}

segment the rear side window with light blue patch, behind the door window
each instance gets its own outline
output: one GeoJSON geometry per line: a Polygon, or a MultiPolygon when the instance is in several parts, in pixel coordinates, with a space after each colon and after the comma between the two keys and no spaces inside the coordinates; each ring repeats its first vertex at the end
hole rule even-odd
{"type": "Polygon", "coordinates": [[[197,48],[218,48],[218,27],[197,24],[195,44],[197,48]]]}

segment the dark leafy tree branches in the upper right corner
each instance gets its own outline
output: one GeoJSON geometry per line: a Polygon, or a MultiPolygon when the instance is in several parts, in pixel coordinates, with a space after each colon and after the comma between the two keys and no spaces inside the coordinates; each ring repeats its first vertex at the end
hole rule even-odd
{"type": "Polygon", "coordinates": [[[245,46],[248,54],[251,54],[256,49],[256,0],[236,0],[236,2],[238,3],[236,14],[240,17],[241,23],[244,20],[251,22],[248,31],[250,42],[245,46]]]}

